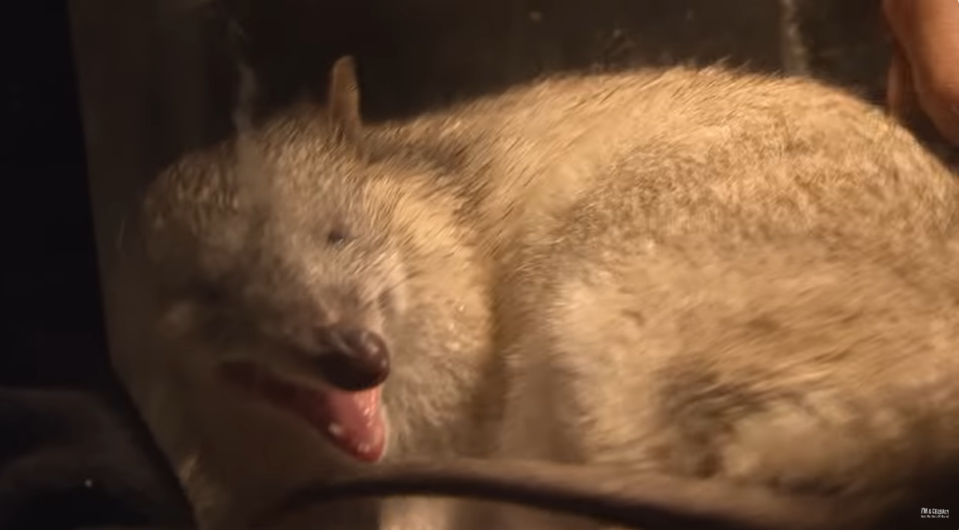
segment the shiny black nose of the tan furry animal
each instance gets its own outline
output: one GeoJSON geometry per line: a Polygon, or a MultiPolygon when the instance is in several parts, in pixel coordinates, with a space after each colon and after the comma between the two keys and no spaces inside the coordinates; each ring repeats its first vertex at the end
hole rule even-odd
{"type": "Polygon", "coordinates": [[[329,384],[347,391],[368,390],[390,375],[390,352],[376,333],[361,328],[318,330],[321,351],[313,364],[329,384]]]}

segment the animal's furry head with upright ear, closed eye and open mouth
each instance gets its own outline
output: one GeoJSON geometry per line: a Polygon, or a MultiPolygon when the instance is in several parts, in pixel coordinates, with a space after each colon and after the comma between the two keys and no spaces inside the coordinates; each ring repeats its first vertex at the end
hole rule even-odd
{"type": "Polygon", "coordinates": [[[455,199],[364,136],[344,58],[325,108],[185,158],[150,190],[144,224],[163,336],[375,461],[384,383],[473,347],[485,313],[455,199]]]}

